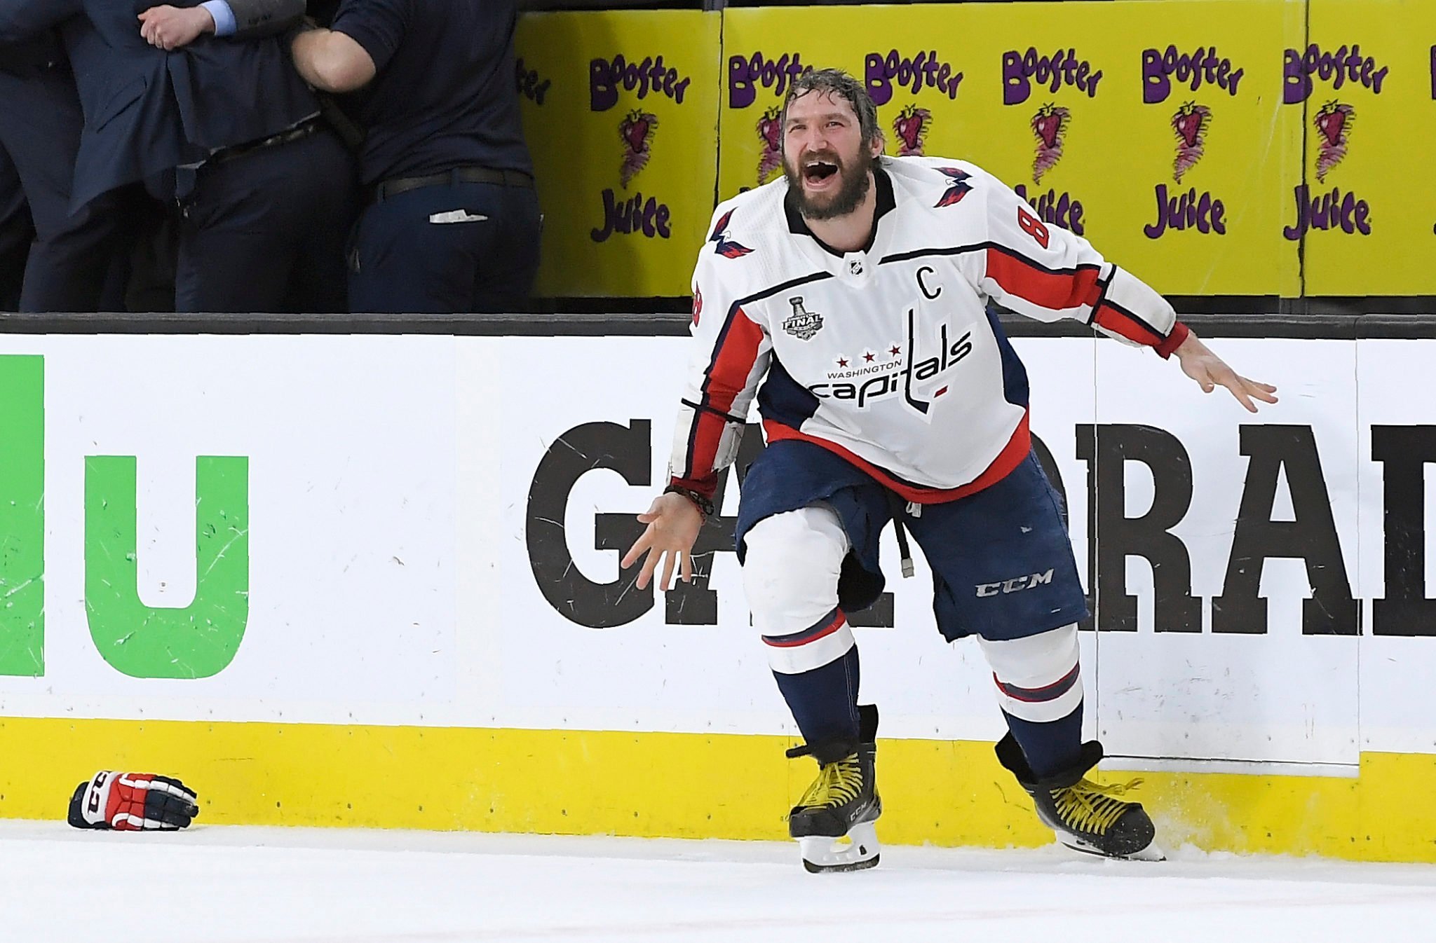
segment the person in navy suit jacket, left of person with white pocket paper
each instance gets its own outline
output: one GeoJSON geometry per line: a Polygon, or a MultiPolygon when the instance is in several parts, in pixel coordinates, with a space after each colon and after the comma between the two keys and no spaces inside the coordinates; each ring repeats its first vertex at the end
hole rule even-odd
{"type": "Polygon", "coordinates": [[[180,311],[345,311],[353,162],[279,39],[303,0],[230,0],[233,36],[174,50],[142,36],[148,6],[0,9],[0,42],[65,39],[86,116],[72,207],[136,181],[174,201],[180,311]]]}

